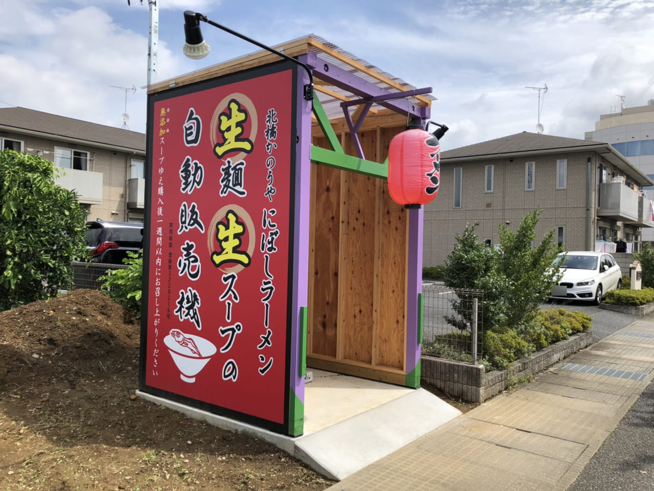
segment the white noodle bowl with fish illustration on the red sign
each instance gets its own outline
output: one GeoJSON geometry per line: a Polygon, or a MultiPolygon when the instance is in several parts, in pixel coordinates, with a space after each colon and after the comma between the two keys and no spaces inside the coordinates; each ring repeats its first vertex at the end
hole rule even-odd
{"type": "Polygon", "coordinates": [[[181,379],[190,384],[196,381],[196,375],[217,351],[213,342],[200,336],[182,333],[179,329],[171,329],[170,334],[163,338],[163,344],[173,357],[181,379]]]}

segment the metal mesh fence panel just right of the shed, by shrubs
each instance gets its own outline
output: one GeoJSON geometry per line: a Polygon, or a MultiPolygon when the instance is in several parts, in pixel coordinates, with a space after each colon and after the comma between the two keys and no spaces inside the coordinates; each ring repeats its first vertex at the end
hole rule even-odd
{"type": "Polygon", "coordinates": [[[423,285],[422,354],[468,363],[481,359],[483,298],[483,290],[423,285]]]}

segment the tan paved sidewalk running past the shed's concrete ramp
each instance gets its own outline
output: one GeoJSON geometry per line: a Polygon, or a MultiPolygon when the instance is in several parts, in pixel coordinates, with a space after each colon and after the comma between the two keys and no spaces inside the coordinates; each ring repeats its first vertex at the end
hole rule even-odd
{"type": "Polygon", "coordinates": [[[647,316],[330,490],[565,491],[653,370],[654,316],[647,316]]]}

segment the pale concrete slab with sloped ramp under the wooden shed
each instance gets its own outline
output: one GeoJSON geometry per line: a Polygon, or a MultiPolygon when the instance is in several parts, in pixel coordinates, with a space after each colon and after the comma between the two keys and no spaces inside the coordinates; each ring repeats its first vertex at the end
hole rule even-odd
{"type": "Polygon", "coordinates": [[[141,391],[137,395],[190,418],[267,441],[335,480],[345,479],[461,414],[424,389],[318,370],[312,374],[313,382],[305,390],[305,432],[297,438],[141,391]]]}

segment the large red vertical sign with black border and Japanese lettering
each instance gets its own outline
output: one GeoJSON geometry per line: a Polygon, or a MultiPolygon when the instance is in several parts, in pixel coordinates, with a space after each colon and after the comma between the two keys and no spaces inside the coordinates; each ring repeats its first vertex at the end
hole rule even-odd
{"type": "Polygon", "coordinates": [[[293,65],[148,99],[141,390],[288,431],[293,65]]]}

